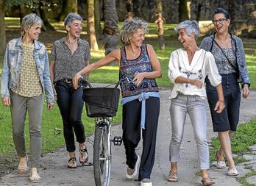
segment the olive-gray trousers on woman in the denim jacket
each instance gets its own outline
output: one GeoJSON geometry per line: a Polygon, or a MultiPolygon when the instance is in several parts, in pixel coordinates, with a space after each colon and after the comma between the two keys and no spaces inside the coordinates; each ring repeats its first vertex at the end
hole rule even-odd
{"type": "Polygon", "coordinates": [[[43,94],[35,97],[19,96],[10,91],[11,117],[13,124],[13,141],[19,157],[26,156],[24,126],[26,111],[29,113],[29,137],[31,167],[38,168],[42,149],[41,123],[43,113],[43,94]]]}

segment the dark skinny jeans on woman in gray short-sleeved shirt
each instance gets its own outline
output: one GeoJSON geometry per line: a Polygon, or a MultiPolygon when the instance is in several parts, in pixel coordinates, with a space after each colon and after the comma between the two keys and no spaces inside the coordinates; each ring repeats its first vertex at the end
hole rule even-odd
{"type": "Polygon", "coordinates": [[[75,140],[74,133],[78,143],[85,142],[85,127],[82,124],[82,109],[84,101],[82,100],[82,88],[74,89],[72,83],[57,82],[55,85],[57,93],[57,104],[63,118],[63,130],[65,144],[68,152],[74,152],[75,140]]]}

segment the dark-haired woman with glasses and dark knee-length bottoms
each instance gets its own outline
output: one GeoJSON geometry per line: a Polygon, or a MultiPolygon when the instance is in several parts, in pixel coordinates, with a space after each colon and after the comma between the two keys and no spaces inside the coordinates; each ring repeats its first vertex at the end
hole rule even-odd
{"type": "Polygon", "coordinates": [[[229,12],[218,8],[214,13],[213,24],[216,32],[210,37],[205,37],[200,48],[210,51],[215,58],[218,73],[222,77],[226,105],[224,112],[214,112],[213,108],[218,100],[217,93],[214,87],[210,85],[209,80],[206,79],[207,99],[213,120],[213,131],[218,132],[221,143],[220,149],[216,151],[216,166],[217,168],[226,168],[224,161],[224,156],[226,156],[229,167],[227,175],[236,176],[238,171],[232,159],[230,139],[235,134],[239,121],[241,90],[238,79],[241,82],[243,98],[247,98],[249,96],[249,76],[242,40],[229,33],[229,12]]]}

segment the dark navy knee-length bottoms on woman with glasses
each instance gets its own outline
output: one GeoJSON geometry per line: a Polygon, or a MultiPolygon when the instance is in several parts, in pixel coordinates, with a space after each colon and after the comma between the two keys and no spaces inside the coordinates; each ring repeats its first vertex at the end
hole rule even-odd
{"type": "Polygon", "coordinates": [[[216,87],[210,85],[208,79],[206,82],[206,93],[210,107],[210,113],[213,121],[214,132],[225,132],[228,130],[236,131],[239,121],[239,110],[241,102],[241,90],[238,85],[236,74],[223,74],[222,89],[225,99],[225,109],[221,113],[214,110],[218,101],[218,93],[216,87]]]}

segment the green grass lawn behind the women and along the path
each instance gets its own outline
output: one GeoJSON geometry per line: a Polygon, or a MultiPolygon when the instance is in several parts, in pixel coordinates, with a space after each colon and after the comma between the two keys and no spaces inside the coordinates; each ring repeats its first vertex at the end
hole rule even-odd
{"type": "MultiPolygon", "coordinates": [[[[7,25],[7,41],[19,37],[19,18],[6,18],[7,25]]],[[[42,32],[40,35],[40,41],[43,42],[49,54],[51,52],[51,44],[54,40],[60,39],[65,36],[65,31],[63,30],[63,22],[56,22],[51,20],[52,25],[55,27],[57,32],[42,32]]],[[[83,23],[86,26],[86,23],[83,23]]],[[[121,23],[118,25],[121,27],[121,23]]],[[[157,84],[160,87],[170,87],[170,82],[168,80],[167,71],[168,71],[168,60],[171,54],[171,51],[181,47],[181,44],[177,40],[177,34],[174,32],[175,24],[166,24],[165,25],[165,45],[166,50],[160,51],[158,49],[158,38],[157,38],[157,26],[156,24],[149,24],[149,34],[146,35],[146,40],[144,43],[151,44],[156,53],[157,57],[160,60],[160,64],[163,71],[163,77],[157,79],[157,84]]],[[[82,38],[86,39],[86,28],[83,29],[82,38]]],[[[198,44],[202,38],[199,38],[198,44]]],[[[246,62],[247,68],[249,71],[249,77],[251,80],[251,89],[256,90],[256,40],[255,39],[243,39],[244,49],[246,51],[246,62]]],[[[102,43],[99,43],[99,46],[102,47],[102,43]]],[[[91,51],[92,60],[90,62],[95,62],[100,58],[104,57],[104,49],[99,49],[99,51],[91,51]]],[[[2,69],[2,58],[0,58],[0,76],[2,69]]],[[[93,71],[90,74],[90,82],[102,82],[102,83],[115,83],[118,80],[118,67],[116,65],[109,65],[102,67],[93,71]]],[[[60,117],[60,112],[57,108],[57,104],[54,107],[54,110],[46,110],[46,105],[43,110],[43,123],[42,123],[42,140],[43,140],[43,153],[54,151],[61,146],[64,146],[63,139],[63,124],[60,117]]],[[[11,119],[10,119],[10,110],[9,107],[4,107],[0,104],[0,165],[10,165],[13,167],[12,157],[15,156],[15,148],[13,146],[12,138],[12,128],[11,128],[11,119]],[[3,158],[5,157],[5,158],[3,158]]],[[[93,134],[94,124],[93,119],[88,118],[85,112],[82,115],[82,121],[85,124],[86,135],[93,134]]],[[[26,144],[29,144],[29,134],[28,134],[28,121],[26,120],[26,144]]],[[[121,106],[118,108],[118,113],[115,118],[113,118],[113,123],[118,124],[121,122],[121,106]]],[[[248,147],[253,143],[255,144],[255,126],[256,122],[252,121],[249,124],[243,124],[238,126],[238,133],[235,136],[237,143],[232,143],[232,148],[236,154],[243,154],[249,151],[248,147]],[[248,136],[242,136],[246,134],[248,136]],[[252,138],[252,139],[251,139],[252,138]],[[244,150],[246,149],[246,150],[244,150]]],[[[218,140],[213,139],[213,149],[211,149],[211,160],[213,160],[213,151],[218,146],[218,140]]],[[[29,146],[27,146],[29,149],[29,146]]],[[[236,160],[241,161],[241,160],[236,160]]]]}

